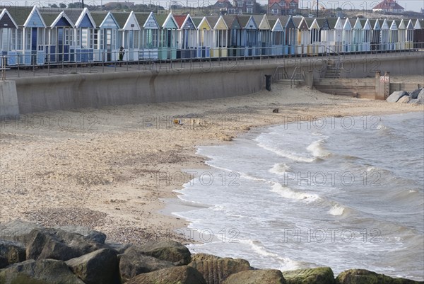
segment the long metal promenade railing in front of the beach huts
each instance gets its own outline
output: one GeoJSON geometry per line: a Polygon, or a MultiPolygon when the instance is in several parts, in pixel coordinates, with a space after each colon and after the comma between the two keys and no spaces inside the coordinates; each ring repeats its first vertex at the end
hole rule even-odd
{"type": "Polygon", "coordinates": [[[306,60],[335,59],[341,62],[348,58],[365,58],[375,60],[379,57],[396,57],[409,55],[424,56],[424,42],[403,42],[402,50],[391,49],[398,45],[377,44],[318,44],[310,45],[275,45],[269,47],[207,47],[177,49],[177,47],[158,47],[141,50],[125,50],[124,58],[119,60],[119,51],[79,52],[78,56],[71,53],[4,55],[1,57],[2,79],[13,79],[23,76],[51,76],[60,74],[90,74],[106,72],[153,70],[181,71],[196,69],[207,72],[212,67],[235,69],[240,65],[258,65],[287,62],[298,64],[306,60]],[[211,52],[218,50],[219,52],[211,52]],[[298,51],[293,53],[292,51],[298,51]],[[346,51],[349,50],[349,51],[346,51]],[[353,50],[353,51],[351,51],[353,50]],[[288,52],[288,53],[287,53],[288,52]],[[95,53],[95,56],[93,56],[95,53]],[[228,55],[212,57],[213,54],[228,55]],[[378,55],[378,57],[376,56],[378,55]],[[56,59],[79,60],[56,60],[56,59]],[[113,60],[107,60],[112,58],[113,60]],[[44,59],[44,60],[43,60],[44,59]]]}

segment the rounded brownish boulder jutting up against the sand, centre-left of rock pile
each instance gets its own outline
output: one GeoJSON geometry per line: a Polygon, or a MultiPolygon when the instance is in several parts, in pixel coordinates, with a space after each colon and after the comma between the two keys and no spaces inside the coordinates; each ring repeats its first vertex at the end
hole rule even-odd
{"type": "Polygon", "coordinates": [[[184,266],[190,262],[191,254],[187,247],[174,241],[153,241],[139,247],[139,251],[146,256],[170,261],[176,266],[184,266]]]}

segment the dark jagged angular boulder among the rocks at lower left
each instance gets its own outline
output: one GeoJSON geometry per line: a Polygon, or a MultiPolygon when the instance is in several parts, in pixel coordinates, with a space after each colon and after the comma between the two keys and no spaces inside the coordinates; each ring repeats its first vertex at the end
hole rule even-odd
{"type": "Polygon", "coordinates": [[[105,244],[96,242],[93,237],[61,229],[33,229],[28,235],[27,259],[69,259],[102,249],[105,244]]]}

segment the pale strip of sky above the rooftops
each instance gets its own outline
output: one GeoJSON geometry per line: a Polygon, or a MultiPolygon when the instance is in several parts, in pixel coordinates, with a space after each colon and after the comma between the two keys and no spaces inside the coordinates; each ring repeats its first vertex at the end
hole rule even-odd
{"type": "MultiPolygon", "coordinates": [[[[81,0],[0,0],[1,6],[13,6],[13,5],[27,5],[33,6],[34,4],[39,4],[39,6],[48,6],[48,4],[59,4],[59,3],[73,3],[81,0]]],[[[106,4],[107,2],[124,2],[125,0],[84,0],[84,4],[95,4],[101,5],[106,4]]],[[[183,6],[208,6],[214,4],[216,0],[128,0],[135,2],[135,4],[156,4],[163,6],[165,8],[170,6],[171,1],[180,2],[183,6]]],[[[231,1],[231,0],[230,0],[231,1]]],[[[266,4],[267,0],[257,0],[260,4],[266,4]]],[[[344,9],[371,9],[373,6],[377,5],[382,0],[317,0],[319,4],[325,6],[326,8],[337,8],[341,7],[344,9]]],[[[310,8],[314,0],[299,0],[299,6],[303,8],[310,8]]],[[[421,8],[424,8],[424,0],[397,0],[397,2],[406,8],[406,11],[416,11],[419,12],[421,8]]],[[[314,6],[316,7],[316,6],[314,6]]],[[[314,8],[316,9],[316,8],[314,8]]]]}

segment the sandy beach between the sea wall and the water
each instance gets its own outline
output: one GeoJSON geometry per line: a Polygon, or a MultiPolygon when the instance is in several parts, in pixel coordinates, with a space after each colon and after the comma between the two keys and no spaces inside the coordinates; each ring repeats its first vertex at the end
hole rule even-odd
{"type": "MultiPolygon", "coordinates": [[[[424,84],[423,76],[391,81],[424,84]]],[[[298,119],[423,110],[273,84],[271,92],[210,101],[2,119],[0,222],[19,218],[46,226],[81,225],[113,241],[140,244],[187,225],[158,211],[163,199],[175,198],[173,191],[189,181],[182,169],[206,169],[196,145],[228,143],[253,127],[298,119]]]]}

